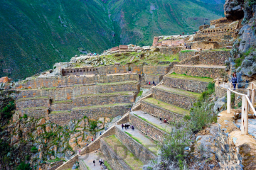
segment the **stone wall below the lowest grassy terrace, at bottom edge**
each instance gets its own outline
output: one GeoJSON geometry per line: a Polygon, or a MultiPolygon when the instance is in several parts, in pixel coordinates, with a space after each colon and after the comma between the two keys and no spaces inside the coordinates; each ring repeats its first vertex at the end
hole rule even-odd
{"type": "Polygon", "coordinates": [[[119,157],[116,152],[107,145],[105,140],[100,140],[100,150],[104,154],[105,158],[107,159],[107,163],[110,164],[112,169],[122,170],[122,169],[129,169],[132,170],[121,157],[119,157]]]}

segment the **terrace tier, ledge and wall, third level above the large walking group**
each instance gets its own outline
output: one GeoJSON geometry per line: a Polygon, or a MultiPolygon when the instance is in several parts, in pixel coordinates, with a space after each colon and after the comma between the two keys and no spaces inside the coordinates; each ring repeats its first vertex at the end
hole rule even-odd
{"type": "Polygon", "coordinates": [[[151,91],[153,98],[185,109],[190,109],[201,96],[195,92],[174,89],[164,85],[156,86],[151,91]]]}

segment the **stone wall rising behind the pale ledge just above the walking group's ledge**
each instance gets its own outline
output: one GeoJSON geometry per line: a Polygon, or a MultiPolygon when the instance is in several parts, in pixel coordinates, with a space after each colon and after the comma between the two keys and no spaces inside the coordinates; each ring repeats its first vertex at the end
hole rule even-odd
{"type": "Polygon", "coordinates": [[[151,103],[147,103],[146,101],[142,101],[141,104],[142,111],[154,115],[156,118],[167,119],[169,122],[178,122],[183,118],[183,115],[179,115],[177,113],[172,113],[164,108],[160,108],[151,103]]]}

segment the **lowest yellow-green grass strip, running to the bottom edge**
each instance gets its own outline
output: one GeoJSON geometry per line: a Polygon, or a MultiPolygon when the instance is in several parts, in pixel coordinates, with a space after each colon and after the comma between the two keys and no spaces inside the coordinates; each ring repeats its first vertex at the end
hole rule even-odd
{"type": "Polygon", "coordinates": [[[132,152],[129,152],[127,147],[125,147],[115,135],[111,135],[103,139],[105,142],[107,142],[108,145],[110,145],[110,147],[112,147],[114,152],[116,152],[119,157],[121,157],[124,162],[126,162],[132,169],[142,169],[142,166],[144,165],[143,162],[137,159],[137,157],[135,157],[132,152]]]}

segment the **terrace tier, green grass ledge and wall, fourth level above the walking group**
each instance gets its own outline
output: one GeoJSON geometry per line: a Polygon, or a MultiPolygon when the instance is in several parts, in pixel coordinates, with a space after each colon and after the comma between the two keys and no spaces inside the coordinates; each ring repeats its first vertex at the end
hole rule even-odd
{"type": "Polygon", "coordinates": [[[172,73],[164,77],[164,86],[202,93],[212,81],[213,79],[210,78],[192,77],[184,74],[172,73]]]}

